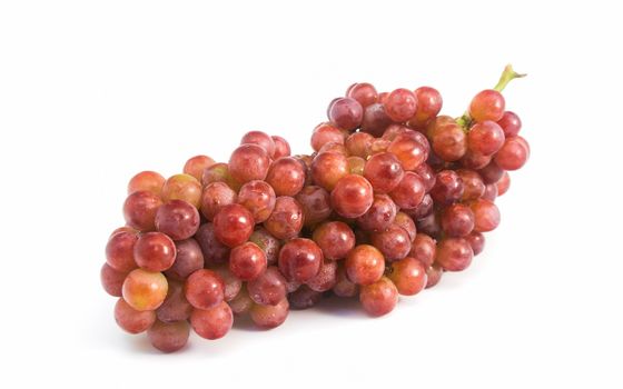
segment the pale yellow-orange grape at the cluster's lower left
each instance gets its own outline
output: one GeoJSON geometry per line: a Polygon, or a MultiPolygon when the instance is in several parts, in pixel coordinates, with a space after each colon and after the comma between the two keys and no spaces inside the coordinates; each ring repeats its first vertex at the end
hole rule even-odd
{"type": "Polygon", "coordinates": [[[123,300],[138,311],[155,310],[167,297],[167,278],[160,272],[135,269],[126,277],[121,292],[123,300]]]}

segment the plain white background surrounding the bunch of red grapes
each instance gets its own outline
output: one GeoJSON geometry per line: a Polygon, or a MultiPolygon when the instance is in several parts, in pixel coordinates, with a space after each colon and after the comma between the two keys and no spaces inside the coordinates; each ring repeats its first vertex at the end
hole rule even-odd
{"type": "Polygon", "coordinates": [[[619,10],[222,3],[0,2],[0,386],[623,386],[619,10]],[[323,305],[174,355],[116,327],[99,269],[134,173],[227,160],[251,129],[307,152],[355,81],[431,84],[458,116],[507,62],[532,159],[466,272],[382,319],[323,305]]]}

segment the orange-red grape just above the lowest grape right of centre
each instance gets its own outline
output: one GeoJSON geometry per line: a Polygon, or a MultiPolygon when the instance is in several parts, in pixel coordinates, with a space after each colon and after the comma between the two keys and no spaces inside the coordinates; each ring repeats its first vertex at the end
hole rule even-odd
{"type": "Polygon", "coordinates": [[[383,276],[385,258],[374,246],[359,245],[346,257],[345,267],[350,281],[370,285],[383,276]]]}

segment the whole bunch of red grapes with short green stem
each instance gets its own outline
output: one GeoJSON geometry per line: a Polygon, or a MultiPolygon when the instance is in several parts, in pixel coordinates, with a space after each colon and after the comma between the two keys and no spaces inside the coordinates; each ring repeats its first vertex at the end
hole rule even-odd
{"type": "Polygon", "coordinates": [[[218,339],[241,315],[274,328],[332,295],[383,316],[464,270],[500,223],[507,171],[530,154],[500,92],[518,74],[505,74],[458,119],[438,116],[433,88],[356,83],[309,156],[251,131],[228,163],[197,156],[168,179],[136,174],[101,269],[117,323],[170,352],[190,328],[218,339]]]}

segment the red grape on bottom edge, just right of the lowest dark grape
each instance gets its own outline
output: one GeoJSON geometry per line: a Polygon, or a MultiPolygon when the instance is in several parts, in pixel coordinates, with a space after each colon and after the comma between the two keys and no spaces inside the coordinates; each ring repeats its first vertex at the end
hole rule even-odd
{"type": "Polygon", "coordinates": [[[209,340],[225,337],[234,325],[234,315],[227,302],[221,301],[208,309],[195,309],[190,315],[190,326],[198,336],[209,340]]]}

